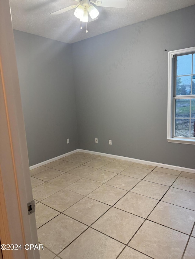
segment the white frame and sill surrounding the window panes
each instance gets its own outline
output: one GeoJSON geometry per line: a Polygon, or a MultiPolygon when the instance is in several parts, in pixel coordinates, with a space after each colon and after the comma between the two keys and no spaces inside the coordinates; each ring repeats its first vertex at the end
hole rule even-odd
{"type": "MultiPolygon", "coordinates": [[[[168,142],[174,142],[174,143],[180,143],[180,144],[191,144],[195,145],[195,138],[189,138],[189,137],[174,137],[173,134],[173,112],[175,109],[175,104],[173,103],[173,93],[174,93],[174,56],[180,55],[180,54],[187,54],[195,52],[195,47],[192,48],[186,48],[186,49],[178,49],[174,51],[168,52],[168,107],[167,107],[167,141],[168,142]],[[174,107],[173,107],[174,104],[174,107]]],[[[189,98],[189,97],[188,97],[189,98]]]]}

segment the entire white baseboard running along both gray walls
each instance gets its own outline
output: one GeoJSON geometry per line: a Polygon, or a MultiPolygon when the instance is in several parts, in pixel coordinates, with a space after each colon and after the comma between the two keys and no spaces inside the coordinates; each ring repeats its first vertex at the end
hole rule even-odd
{"type": "Polygon", "coordinates": [[[191,169],[191,168],[186,168],[186,167],[181,167],[181,166],[176,166],[176,165],[166,165],[166,164],[150,162],[150,161],[146,161],[146,160],[140,160],[140,159],[136,159],[136,158],[130,158],[130,157],[125,157],[125,156],[120,156],[120,155],[110,155],[110,154],[106,154],[106,153],[89,151],[89,150],[84,150],[84,149],[75,149],[75,150],[73,150],[71,152],[68,152],[66,154],[56,156],[54,158],[51,158],[49,160],[46,160],[46,161],[41,162],[41,163],[36,164],[36,165],[32,165],[32,166],[30,166],[30,170],[35,169],[35,168],[37,168],[37,167],[39,167],[41,165],[46,165],[48,163],[56,161],[56,160],[58,160],[58,159],[60,159],[62,157],[65,157],[67,155],[74,154],[76,152],[83,152],[83,153],[88,153],[88,154],[93,154],[93,155],[103,155],[103,156],[107,156],[107,157],[111,157],[111,158],[116,158],[116,159],[127,160],[127,161],[130,161],[130,162],[141,163],[141,164],[144,164],[144,165],[154,165],[154,166],[159,166],[159,167],[163,167],[163,168],[167,168],[167,169],[173,169],[173,170],[178,170],[178,171],[183,171],[183,172],[195,173],[195,169],[191,169]]]}

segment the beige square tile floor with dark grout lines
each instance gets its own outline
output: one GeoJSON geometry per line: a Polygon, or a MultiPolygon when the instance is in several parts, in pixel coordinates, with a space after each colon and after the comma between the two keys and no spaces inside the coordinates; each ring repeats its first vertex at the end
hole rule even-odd
{"type": "Polygon", "coordinates": [[[41,259],[195,259],[195,174],[77,152],[30,175],[41,259]]]}

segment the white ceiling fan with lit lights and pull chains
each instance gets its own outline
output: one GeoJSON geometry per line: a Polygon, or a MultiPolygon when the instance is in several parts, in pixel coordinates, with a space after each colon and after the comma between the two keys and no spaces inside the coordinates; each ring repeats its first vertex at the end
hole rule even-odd
{"type": "MultiPolygon", "coordinates": [[[[74,15],[76,16],[76,18],[80,19],[80,22],[86,22],[86,27],[87,27],[87,22],[98,19],[99,12],[94,5],[101,6],[101,7],[116,7],[116,8],[125,8],[127,5],[127,0],[96,0],[96,1],[74,0],[74,1],[78,3],[76,5],[71,5],[66,8],[62,8],[50,14],[58,15],[76,8],[74,15]]],[[[81,26],[81,29],[82,29],[82,26],[81,26]]],[[[88,31],[86,30],[86,32],[88,31]]]]}

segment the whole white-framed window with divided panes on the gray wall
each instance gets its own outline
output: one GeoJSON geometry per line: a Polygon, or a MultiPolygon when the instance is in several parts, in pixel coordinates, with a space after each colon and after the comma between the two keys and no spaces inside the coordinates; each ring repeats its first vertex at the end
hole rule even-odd
{"type": "Polygon", "coordinates": [[[195,47],[168,52],[167,140],[195,145],[195,47]]]}

